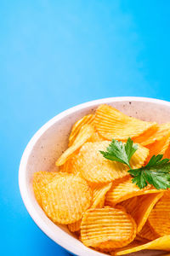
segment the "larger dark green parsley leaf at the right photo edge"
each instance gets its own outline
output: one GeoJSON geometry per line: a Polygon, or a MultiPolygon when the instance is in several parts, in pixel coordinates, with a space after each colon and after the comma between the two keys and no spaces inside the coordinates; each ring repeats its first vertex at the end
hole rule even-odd
{"type": "Polygon", "coordinates": [[[146,166],[128,171],[139,189],[144,189],[149,183],[156,189],[170,188],[170,160],[162,160],[162,157],[163,154],[153,155],[146,166]]]}

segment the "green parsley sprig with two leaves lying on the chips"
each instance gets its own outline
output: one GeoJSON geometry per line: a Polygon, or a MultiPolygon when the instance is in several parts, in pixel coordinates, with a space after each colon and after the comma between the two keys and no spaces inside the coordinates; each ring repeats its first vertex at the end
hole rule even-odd
{"type": "Polygon", "coordinates": [[[130,159],[138,149],[137,144],[129,137],[127,143],[112,140],[106,151],[100,151],[108,160],[121,162],[129,167],[133,183],[144,189],[148,184],[153,185],[156,189],[170,188],[170,160],[162,159],[162,154],[153,155],[146,166],[139,169],[132,169],[130,159]]]}

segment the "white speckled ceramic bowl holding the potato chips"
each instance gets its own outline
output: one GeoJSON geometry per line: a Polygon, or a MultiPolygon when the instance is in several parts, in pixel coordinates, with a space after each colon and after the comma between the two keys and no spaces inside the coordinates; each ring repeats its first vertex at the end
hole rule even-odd
{"type": "MultiPolygon", "coordinates": [[[[161,100],[142,97],[114,97],[83,103],[59,113],[43,125],[31,138],[20,161],[20,194],[31,218],[47,236],[61,247],[80,256],[101,256],[105,253],[99,253],[85,247],[65,226],[55,225],[37,204],[31,180],[34,172],[57,170],[54,163],[63,150],[67,148],[71,126],[83,115],[94,113],[94,110],[103,103],[110,104],[135,118],[157,121],[158,123],[170,121],[170,102],[161,100]]],[[[142,255],[155,255],[150,251],[145,253],[142,255]]],[[[136,253],[135,255],[141,254],[136,253]]]]}

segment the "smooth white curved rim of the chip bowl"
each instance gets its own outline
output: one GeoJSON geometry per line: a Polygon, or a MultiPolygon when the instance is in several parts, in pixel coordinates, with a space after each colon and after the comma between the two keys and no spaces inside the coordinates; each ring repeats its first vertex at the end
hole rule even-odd
{"type": "MultiPolygon", "coordinates": [[[[64,118],[66,115],[76,112],[77,110],[81,110],[83,108],[90,108],[94,105],[100,105],[100,104],[107,104],[111,102],[150,102],[150,103],[157,103],[163,106],[170,107],[170,102],[154,99],[150,97],[138,97],[138,96],[121,96],[121,97],[109,97],[109,98],[102,98],[99,100],[94,100],[90,102],[85,102],[82,104],[79,104],[75,107],[68,108],[67,110],[57,114],[54,116],[54,118],[49,119],[48,122],[45,125],[42,125],[42,127],[31,137],[30,142],[27,144],[24,153],[22,154],[21,160],[20,160],[20,167],[19,167],[19,187],[20,187],[20,195],[22,197],[22,200],[25,204],[27,212],[29,212],[31,218],[34,220],[34,222],[37,224],[37,226],[54,242],[59,244],[59,246],[64,247],[67,251],[70,253],[85,256],[87,255],[87,251],[82,252],[82,249],[79,247],[74,247],[71,245],[71,243],[60,239],[60,237],[56,237],[56,234],[54,236],[53,230],[50,229],[48,224],[42,223],[41,218],[39,218],[39,214],[37,210],[33,207],[31,198],[27,194],[26,189],[26,165],[27,161],[29,159],[29,155],[31,154],[31,150],[34,147],[34,145],[37,143],[37,140],[42,136],[42,134],[48,130],[48,128],[52,125],[54,125],[55,122],[59,121],[59,119],[64,118]]],[[[65,231],[63,231],[65,232],[65,231]]],[[[105,255],[104,253],[96,252],[90,248],[88,248],[88,255],[105,255]],[[91,252],[91,253],[90,253],[91,252]]]]}

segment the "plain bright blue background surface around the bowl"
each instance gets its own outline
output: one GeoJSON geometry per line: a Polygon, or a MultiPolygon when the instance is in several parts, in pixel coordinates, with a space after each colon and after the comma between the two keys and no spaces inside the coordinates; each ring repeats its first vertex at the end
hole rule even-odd
{"type": "Polygon", "coordinates": [[[109,96],[169,100],[167,0],[0,1],[2,255],[70,255],[31,220],[20,157],[48,119],[109,96]]]}

